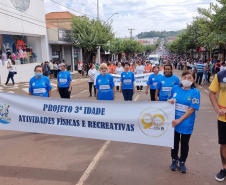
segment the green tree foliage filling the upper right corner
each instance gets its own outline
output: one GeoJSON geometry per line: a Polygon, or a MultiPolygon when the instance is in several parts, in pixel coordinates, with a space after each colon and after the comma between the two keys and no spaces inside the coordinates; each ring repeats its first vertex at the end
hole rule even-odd
{"type": "Polygon", "coordinates": [[[166,47],[176,53],[193,51],[199,52],[199,47],[212,51],[217,47],[226,48],[226,0],[217,0],[217,4],[210,3],[210,7],[198,8],[200,16],[193,18],[178,39],[166,47]]]}

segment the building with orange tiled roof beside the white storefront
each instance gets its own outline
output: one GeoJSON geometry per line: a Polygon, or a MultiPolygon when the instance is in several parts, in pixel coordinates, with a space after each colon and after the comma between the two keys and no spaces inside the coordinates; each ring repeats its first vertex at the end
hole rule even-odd
{"type": "Polygon", "coordinates": [[[77,69],[77,63],[82,61],[82,49],[68,41],[71,32],[70,12],[51,12],[46,14],[48,32],[49,58],[53,61],[67,62],[68,70],[77,69]]]}

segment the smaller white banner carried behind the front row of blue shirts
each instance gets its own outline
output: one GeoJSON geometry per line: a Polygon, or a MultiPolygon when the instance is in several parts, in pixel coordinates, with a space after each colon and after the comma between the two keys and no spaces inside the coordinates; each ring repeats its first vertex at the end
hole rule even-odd
{"type": "MultiPolygon", "coordinates": [[[[96,78],[99,74],[100,74],[100,72],[97,71],[96,75],[95,75],[94,85],[96,85],[96,78]]],[[[135,86],[147,86],[147,81],[151,74],[153,74],[153,73],[145,73],[145,74],[135,75],[135,80],[136,80],[135,86]]],[[[159,71],[159,74],[163,75],[163,71],[159,71]]],[[[121,75],[116,75],[116,74],[111,74],[111,75],[114,77],[115,86],[120,86],[121,75]]]]}

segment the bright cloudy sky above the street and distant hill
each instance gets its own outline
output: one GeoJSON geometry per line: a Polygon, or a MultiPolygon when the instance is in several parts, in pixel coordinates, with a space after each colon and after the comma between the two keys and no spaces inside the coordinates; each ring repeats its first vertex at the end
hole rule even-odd
{"type": "MultiPolygon", "coordinates": [[[[45,0],[45,11],[70,11],[90,18],[97,17],[97,0],[54,0],[73,10],[45,0]],[[83,14],[82,14],[83,13],[83,14]]],[[[112,20],[116,37],[129,37],[128,29],[135,29],[133,36],[148,31],[177,31],[186,28],[192,17],[197,16],[197,8],[208,8],[215,0],[99,0],[100,19],[112,20]],[[169,3],[170,2],[170,3],[169,3]]]]}

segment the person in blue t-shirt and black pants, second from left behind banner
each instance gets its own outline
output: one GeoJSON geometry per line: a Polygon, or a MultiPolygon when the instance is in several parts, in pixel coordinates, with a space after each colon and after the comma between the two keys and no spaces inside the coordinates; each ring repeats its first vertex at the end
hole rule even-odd
{"type": "Polygon", "coordinates": [[[61,98],[70,99],[71,96],[71,86],[72,86],[72,76],[69,71],[66,71],[64,63],[60,64],[61,71],[57,77],[57,92],[60,93],[61,98]]]}

